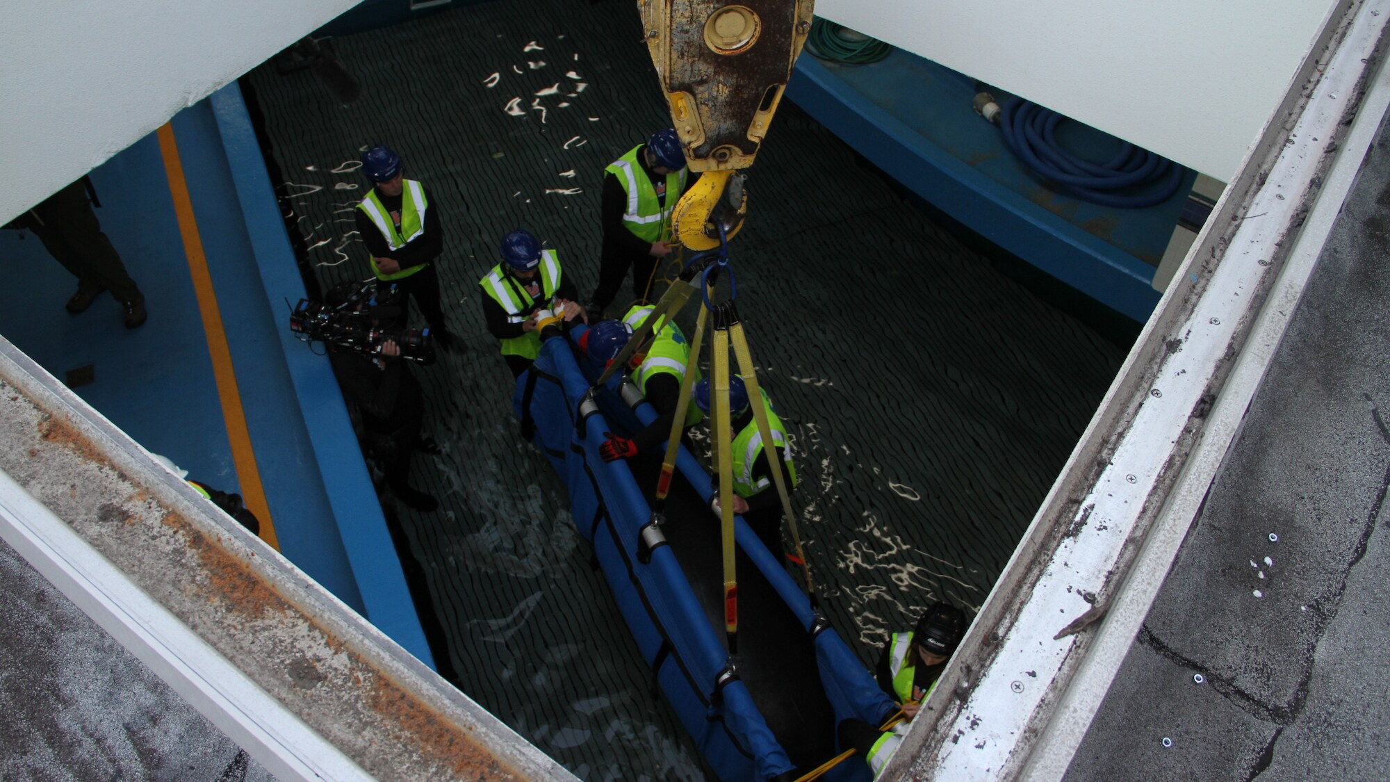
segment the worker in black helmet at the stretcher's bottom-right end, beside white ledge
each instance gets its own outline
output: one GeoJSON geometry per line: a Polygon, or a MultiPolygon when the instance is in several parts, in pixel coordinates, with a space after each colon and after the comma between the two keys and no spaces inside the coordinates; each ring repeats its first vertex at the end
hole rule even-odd
{"type": "Polygon", "coordinates": [[[931,694],[947,661],[965,637],[966,619],[959,608],[933,603],[910,633],[892,633],[878,658],[878,686],[902,705],[905,719],[888,731],[860,719],[845,719],[837,728],[841,747],[855,747],[869,763],[874,779],[902,744],[910,719],[931,694]]]}

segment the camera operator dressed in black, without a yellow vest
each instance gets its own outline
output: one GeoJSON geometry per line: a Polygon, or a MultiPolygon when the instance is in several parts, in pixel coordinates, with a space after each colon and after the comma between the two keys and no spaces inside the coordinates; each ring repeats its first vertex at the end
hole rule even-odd
{"type": "MultiPolygon", "coordinates": [[[[329,291],[328,303],[346,302],[342,287],[329,291]],[[336,301],[335,301],[336,299],[336,301]]],[[[366,308],[364,303],[357,303],[366,308]]],[[[393,323],[399,310],[377,305],[366,310],[373,324],[393,323]]],[[[327,342],[328,360],[342,388],[343,399],[353,413],[353,426],[363,452],[382,465],[386,486],[409,508],[430,512],[439,506],[434,495],[411,488],[410,455],[421,447],[438,448],[420,437],[424,417],[424,392],[410,373],[409,362],[400,358],[400,346],[386,340],[375,353],[363,353],[327,342]]]]}

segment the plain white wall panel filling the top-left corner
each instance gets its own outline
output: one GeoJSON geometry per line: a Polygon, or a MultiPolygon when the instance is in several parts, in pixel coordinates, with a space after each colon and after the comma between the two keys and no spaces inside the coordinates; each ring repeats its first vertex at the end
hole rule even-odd
{"type": "Polygon", "coordinates": [[[0,0],[0,223],[357,0],[0,0]]]}

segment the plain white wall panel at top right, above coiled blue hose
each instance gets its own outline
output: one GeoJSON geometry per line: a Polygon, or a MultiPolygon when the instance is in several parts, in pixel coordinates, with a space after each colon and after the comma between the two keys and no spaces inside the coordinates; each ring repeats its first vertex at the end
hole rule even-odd
{"type": "Polygon", "coordinates": [[[1223,182],[1336,0],[817,0],[816,14],[1223,182]]]}

